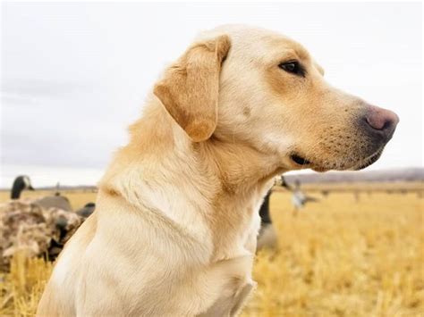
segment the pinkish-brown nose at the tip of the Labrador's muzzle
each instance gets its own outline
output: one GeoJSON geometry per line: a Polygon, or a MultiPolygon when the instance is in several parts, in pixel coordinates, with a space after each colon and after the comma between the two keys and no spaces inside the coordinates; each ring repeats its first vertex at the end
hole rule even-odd
{"type": "Polygon", "coordinates": [[[375,133],[388,141],[393,136],[399,117],[390,110],[369,106],[365,121],[373,134],[375,133]]]}

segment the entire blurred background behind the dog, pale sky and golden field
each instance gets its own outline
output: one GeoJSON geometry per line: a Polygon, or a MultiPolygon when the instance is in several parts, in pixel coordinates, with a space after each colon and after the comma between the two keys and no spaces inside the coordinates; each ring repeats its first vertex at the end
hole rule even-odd
{"type": "Polygon", "coordinates": [[[274,188],[274,238],[259,250],[259,287],[244,315],[422,315],[420,2],[7,1],[1,4],[0,314],[34,313],[51,270],[36,255],[55,258],[94,209],[96,183],[165,65],[199,31],[228,23],[299,41],[332,85],[401,119],[382,157],[365,171],[297,171],[286,176],[289,187],[274,188]],[[20,175],[28,179],[18,181],[21,199],[11,201],[20,175]],[[46,204],[51,196],[67,204],[46,204]],[[298,204],[299,197],[311,199],[298,204]],[[25,218],[31,225],[22,236],[14,215],[33,217],[35,205],[38,221],[25,218]],[[63,218],[66,228],[57,233],[63,218]],[[34,223],[44,233],[34,233],[34,223]]]}

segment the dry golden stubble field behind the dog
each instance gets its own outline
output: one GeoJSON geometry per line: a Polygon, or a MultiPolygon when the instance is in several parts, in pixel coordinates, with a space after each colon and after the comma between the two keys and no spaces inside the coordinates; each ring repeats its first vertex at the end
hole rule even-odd
{"type": "MultiPolygon", "coordinates": [[[[64,195],[75,209],[95,196],[64,195]]],[[[242,316],[423,316],[424,198],[312,195],[319,202],[297,217],[287,192],[271,197],[279,246],[259,252],[258,288],[242,316]]],[[[0,315],[32,315],[50,271],[42,260],[15,257],[0,277],[0,315]]]]}

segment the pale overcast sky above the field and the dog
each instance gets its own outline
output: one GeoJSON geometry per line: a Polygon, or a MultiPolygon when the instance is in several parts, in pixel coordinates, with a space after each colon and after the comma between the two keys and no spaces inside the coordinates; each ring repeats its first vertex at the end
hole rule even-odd
{"type": "Polygon", "coordinates": [[[334,86],[398,113],[369,169],[422,166],[419,3],[2,4],[0,187],[94,184],[166,63],[202,29],[247,23],[306,46],[334,86]]]}

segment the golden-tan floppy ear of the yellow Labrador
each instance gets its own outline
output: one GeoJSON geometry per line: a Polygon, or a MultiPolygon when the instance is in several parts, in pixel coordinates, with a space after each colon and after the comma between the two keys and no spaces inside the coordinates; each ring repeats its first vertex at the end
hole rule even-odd
{"type": "Polygon", "coordinates": [[[166,111],[194,142],[207,140],[216,129],[219,75],[230,46],[227,36],[196,43],[154,88],[166,111]]]}

